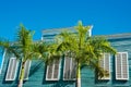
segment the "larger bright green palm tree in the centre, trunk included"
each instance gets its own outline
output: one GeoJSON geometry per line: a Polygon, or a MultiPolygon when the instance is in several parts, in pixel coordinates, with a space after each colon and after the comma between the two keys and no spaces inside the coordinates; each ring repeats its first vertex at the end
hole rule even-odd
{"type": "MultiPolygon", "coordinates": [[[[105,37],[91,37],[88,30],[92,26],[83,26],[80,21],[75,26],[75,33],[63,30],[57,36],[56,48],[62,53],[70,52],[76,62],[76,87],[81,87],[81,66],[82,64],[97,70],[100,77],[104,76],[105,70],[98,64],[103,52],[116,53],[110,42],[105,37]]],[[[106,74],[108,75],[108,74],[106,74]]]]}

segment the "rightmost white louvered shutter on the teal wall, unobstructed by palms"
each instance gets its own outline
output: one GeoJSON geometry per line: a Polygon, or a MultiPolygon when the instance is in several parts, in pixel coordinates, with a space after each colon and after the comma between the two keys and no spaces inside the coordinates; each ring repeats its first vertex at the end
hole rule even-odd
{"type": "Polygon", "coordinates": [[[116,79],[129,79],[128,52],[116,54],[116,79]]]}

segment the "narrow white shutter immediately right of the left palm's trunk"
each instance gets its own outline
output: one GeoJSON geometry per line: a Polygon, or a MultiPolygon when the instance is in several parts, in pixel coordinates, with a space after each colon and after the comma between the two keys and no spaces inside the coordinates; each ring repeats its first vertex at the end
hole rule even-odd
{"type": "Polygon", "coordinates": [[[27,60],[24,65],[24,80],[28,79],[29,67],[31,67],[31,60],[27,60]]]}

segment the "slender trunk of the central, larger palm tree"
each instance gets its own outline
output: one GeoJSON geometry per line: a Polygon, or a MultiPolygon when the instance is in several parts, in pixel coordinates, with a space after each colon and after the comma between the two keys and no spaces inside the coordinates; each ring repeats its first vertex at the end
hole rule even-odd
{"type": "Polygon", "coordinates": [[[76,66],[76,84],[75,87],[81,87],[81,64],[78,63],[76,66]]]}

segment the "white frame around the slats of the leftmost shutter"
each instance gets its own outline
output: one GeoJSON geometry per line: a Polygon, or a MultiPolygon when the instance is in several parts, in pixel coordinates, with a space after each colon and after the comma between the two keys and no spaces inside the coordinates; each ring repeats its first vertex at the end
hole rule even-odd
{"type": "Polygon", "coordinates": [[[5,76],[5,80],[14,80],[14,79],[15,79],[19,61],[16,60],[16,66],[15,66],[15,69],[13,70],[13,67],[14,67],[14,60],[16,60],[16,58],[10,58],[9,66],[8,66],[8,72],[7,72],[7,76],[5,76]],[[11,60],[12,60],[12,62],[11,62],[11,60]],[[10,67],[10,69],[9,69],[9,67],[10,67]],[[11,71],[10,71],[10,70],[11,70],[11,71]],[[13,75],[13,74],[12,74],[13,71],[14,71],[14,76],[13,76],[13,78],[11,78],[11,76],[13,75]],[[10,75],[9,78],[8,78],[8,75],[10,75]]]}

